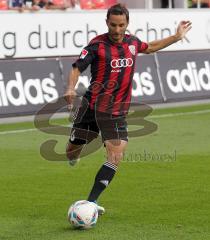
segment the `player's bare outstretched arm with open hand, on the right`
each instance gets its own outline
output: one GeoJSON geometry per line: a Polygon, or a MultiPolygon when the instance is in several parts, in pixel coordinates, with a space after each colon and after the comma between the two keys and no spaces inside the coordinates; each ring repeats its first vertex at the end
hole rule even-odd
{"type": "Polygon", "coordinates": [[[166,48],[173,43],[178,42],[183,39],[186,33],[192,28],[192,23],[190,21],[181,21],[177,27],[177,31],[174,35],[163,38],[161,40],[155,40],[148,43],[148,48],[143,51],[143,53],[153,53],[160,49],[166,48]]]}

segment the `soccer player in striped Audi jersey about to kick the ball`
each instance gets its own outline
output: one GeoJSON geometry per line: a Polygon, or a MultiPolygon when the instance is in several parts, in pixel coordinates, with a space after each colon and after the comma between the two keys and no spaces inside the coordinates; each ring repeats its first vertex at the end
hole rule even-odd
{"type": "MultiPolygon", "coordinates": [[[[190,21],[181,21],[176,34],[162,40],[142,42],[125,34],[129,23],[128,9],[116,4],[108,9],[108,32],[96,36],[86,46],[69,74],[65,98],[72,105],[75,85],[90,65],[91,81],[78,109],[66,148],[69,163],[74,165],[85,144],[101,133],[107,160],[95,177],[88,201],[96,202],[112,181],[128,143],[126,114],[131,100],[132,79],[138,53],[154,53],[183,39],[191,29],[190,21]]],[[[104,208],[98,206],[99,214],[104,208]]]]}

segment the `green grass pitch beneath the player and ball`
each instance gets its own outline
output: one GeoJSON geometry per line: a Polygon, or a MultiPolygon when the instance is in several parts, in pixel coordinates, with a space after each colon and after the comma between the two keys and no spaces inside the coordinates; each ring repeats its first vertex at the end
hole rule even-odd
{"type": "Polygon", "coordinates": [[[41,143],[57,139],[56,151],[64,153],[67,136],[42,133],[33,123],[1,124],[0,239],[209,240],[210,105],[154,110],[147,119],[158,130],[129,140],[99,201],[106,214],[87,231],[72,229],[67,210],[86,199],[104,149],[71,168],[39,152],[41,143]]]}

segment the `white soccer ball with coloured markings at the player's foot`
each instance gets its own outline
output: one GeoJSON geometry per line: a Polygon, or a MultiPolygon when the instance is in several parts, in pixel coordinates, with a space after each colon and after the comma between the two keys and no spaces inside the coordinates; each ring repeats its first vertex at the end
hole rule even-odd
{"type": "Polygon", "coordinates": [[[68,220],[75,228],[93,227],[98,220],[97,205],[86,200],[73,203],[68,210],[68,220]]]}

